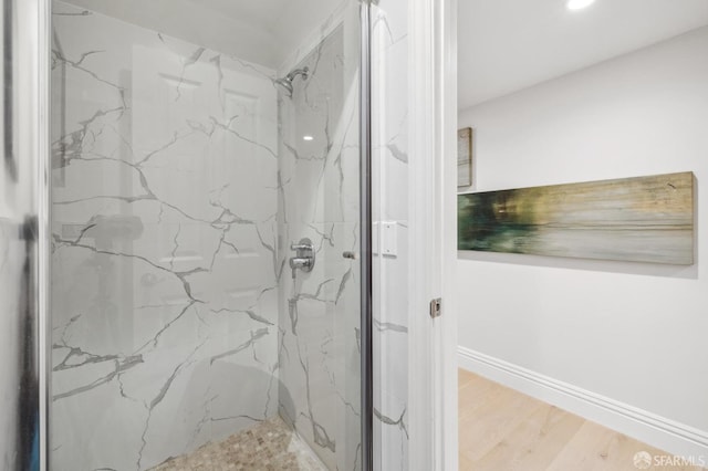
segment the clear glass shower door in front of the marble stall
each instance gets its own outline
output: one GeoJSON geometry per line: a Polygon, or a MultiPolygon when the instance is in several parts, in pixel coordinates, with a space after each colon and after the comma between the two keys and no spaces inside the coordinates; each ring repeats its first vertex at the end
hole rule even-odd
{"type": "Polygon", "coordinates": [[[362,27],[332,7],[53,1],[51,469],[362,469],[362,27]]]}

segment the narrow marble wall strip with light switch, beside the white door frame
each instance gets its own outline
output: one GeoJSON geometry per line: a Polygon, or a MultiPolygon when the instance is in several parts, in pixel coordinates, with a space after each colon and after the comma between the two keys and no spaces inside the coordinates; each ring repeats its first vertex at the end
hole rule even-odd
{"type": "Polygon", "coordinates": [[[408,470],[408,7],[372,7],[374,468],[408,470]],[[384,240],[397,251],[387,253],[384,240]],[[382,248],[381,250],[377,248],[382,248]],[[383,252],[383,254],[381,253],[383,252]]]}

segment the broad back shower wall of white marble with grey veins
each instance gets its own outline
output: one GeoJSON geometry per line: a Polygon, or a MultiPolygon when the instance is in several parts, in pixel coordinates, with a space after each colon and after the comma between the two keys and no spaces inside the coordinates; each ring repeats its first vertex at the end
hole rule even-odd
{"type": "MultiPolygon", "coordinates": [[[[274,73],[60,2],[53,22],[52,469],[144,470],[275,415],[298,359],[274,73]]],[[[322,250],[350,237],[308,223],[322,250]]]]}

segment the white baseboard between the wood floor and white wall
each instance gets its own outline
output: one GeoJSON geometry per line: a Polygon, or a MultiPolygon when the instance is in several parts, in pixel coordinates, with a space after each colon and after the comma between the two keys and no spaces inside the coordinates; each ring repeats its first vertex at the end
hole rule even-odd
{"type": "Polygon", "coordinates": [[[459,346],[458,365],[679,457],[708,459],[708,432],[459,346]]]}

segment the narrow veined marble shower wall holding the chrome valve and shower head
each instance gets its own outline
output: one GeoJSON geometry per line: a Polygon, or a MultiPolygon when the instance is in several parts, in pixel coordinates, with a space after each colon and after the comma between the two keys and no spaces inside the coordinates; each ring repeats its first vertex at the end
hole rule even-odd
{"type": "Polygon", "coordinates": [[[282,263],[310,238],[312,272],[281,279],[280,414],[330,469],[361,469],[358,4],[346,1],[281,75],[308,66],[280,97],[282,263]]]}

